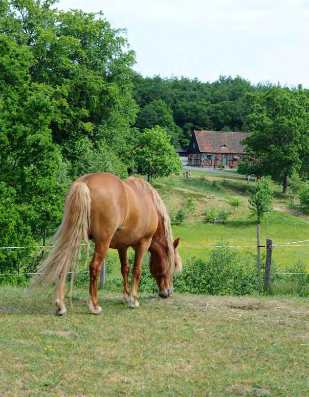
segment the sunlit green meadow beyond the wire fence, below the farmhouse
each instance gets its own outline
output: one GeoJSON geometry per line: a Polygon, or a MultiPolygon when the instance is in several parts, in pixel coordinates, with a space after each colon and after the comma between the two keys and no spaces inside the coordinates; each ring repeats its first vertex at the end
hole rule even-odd
{"type": "MultiPolygon", "coordinates": [[[[184,260],[189,256],[205,258],[209,256],[207,248],[185,247],[186,245],[215,245],[223,240],[230,245],[255,245],[256,224],[251,218],[248,209],[248,198],[254,182],[248,183],[243,176],[226,172],[192,171],[190,179],[180,177],[162,178],[155,183],[172,215],[183,206],[185,201],[192,197],[196,204],[194,216],[181,226],[173,226],[175,236],[179,236],[179,251],[184,260]],[[215,182],[216,187],[213,187],[215,182]],[[214,199],[209,199],[215,195],[214,199]],[[231,215],[225,224],[213,225],[204,222],[206,208],[230,209],[226,197],[231,195],[242,200],[242,206],[231,215]]],[[[299,204],[293,205],[293,198],[281,193],[281,187],[273,184],[274,206],[283,210],[301,209],[299,204]]],[[[264,245],[266,238],[271,238],[274,244],[309,239],[309,217],[295,216],[290,213],[272,210],[265,214],[261,223],[261,242],[264,245]],[[268,219],[268,223],[267,223],[268,219]]],[[[307,247],[278,247],[273,251],[273,258],[280,267],[291,267],[297,260],[302,260],[309,269],[309,242],[303,243],[307,247]]],[[[245,248],[256,252],[255,248],[245,248]]],[[[263,250],[262,250],[263,251],[263,250]]]]}

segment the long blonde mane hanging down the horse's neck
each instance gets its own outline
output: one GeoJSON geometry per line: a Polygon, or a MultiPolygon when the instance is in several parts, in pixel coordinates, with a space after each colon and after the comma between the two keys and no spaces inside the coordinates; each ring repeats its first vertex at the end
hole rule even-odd
{"type": "MultiPolygon", "coordinates": [[[[174,273],[175,253],[174,253],[174,246],[173,246],[173,233],[172,233],[170,216],[167,212],[165,204],[163,203],[163,200],[161,199],[159,193],[155,190],[155,188],[152,187],[150,185],[150,183],[146,182],[144,179],[129,177],[127,179],[127,181],[133,183],[136,187],[138,187],[142,191],[148,190],[151,192],[151,194],[153,196],[155,208],[158,211],[158,214],[162,220],[164,234],[165,234],[166,243],[167,243],[167,259],[166,259],[165,272],[169,273],[171,271],[172,273],[174,273]]],[[[178,269],[176,269],[176,270],[178,270],[178,269]]]]}

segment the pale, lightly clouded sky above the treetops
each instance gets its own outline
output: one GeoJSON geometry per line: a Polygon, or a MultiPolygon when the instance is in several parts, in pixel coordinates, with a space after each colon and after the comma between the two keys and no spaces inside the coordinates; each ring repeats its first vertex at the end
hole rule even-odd
{"type": "Polygon", "coordinates": [[[309,88],[309,0],[60,0],[127,29],[144,76],[309,88]]]}

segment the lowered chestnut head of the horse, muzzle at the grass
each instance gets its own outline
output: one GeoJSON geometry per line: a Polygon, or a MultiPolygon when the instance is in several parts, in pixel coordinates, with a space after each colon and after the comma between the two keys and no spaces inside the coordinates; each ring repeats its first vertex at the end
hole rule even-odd
{"type": "Polygon", "coordinates": [[[166,247],[156,246],[151,249],[149,267],[152,275],[155,277],[159,288],[159,296],[167,298],[173,293],[173,276],[175,273],[181,272],[182,264],[178,253],[178,244],[180,238],[173,243],[170,253],[166,247]]]}

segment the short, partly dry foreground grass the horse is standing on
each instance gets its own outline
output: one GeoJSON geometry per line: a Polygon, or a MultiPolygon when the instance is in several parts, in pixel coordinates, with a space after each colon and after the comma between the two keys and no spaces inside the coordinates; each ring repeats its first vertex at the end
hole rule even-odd
{"type": "Polygon", "coordinates": [[[96,317],[78,290],[59,318],[22,293],[0,288],[0,396],[308,396],[305,299],[100,292],[96,317]]]}

